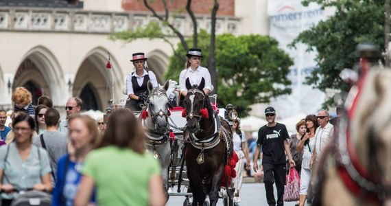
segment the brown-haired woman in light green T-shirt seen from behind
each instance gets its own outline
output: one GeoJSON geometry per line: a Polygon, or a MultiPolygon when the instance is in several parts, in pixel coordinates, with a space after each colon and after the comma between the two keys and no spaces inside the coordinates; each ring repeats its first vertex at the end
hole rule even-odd
{"type": "Polygon", "coordinates": [[[157,205],[167,202],[161,165],[146,152],[141,124],[129,109],[108,117],[98,148],[86,158],[75,205],[86,205],[94,187],[99,206],[157,205]]]}

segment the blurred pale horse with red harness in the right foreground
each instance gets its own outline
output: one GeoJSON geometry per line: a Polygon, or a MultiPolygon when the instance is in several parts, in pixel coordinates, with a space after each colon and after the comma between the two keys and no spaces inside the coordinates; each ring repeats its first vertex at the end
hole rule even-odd
{"type": "Polygon", "coordinates": [[[313,205],[391,205],[391,70],[372,68],[346,100],[320,160],[313,205]]]}

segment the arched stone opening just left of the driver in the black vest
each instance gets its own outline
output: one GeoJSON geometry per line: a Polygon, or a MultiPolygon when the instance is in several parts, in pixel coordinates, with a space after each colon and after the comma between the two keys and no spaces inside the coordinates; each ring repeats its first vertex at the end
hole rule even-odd
{"type": "MultiPolygon", "coordinates": [[[[116,92],[121,91],[121,88],[124,87],[121,78],[122,73],[112,53],[110,53],[110,60],[113,68],[106,69],[107,51],[103,47],[96,47],[88,52],[84,56],[73,82],[73,96],[82,95],[83,89],[89,87],[93,90],[96,102],[86,102],[85,105],[96,104],[100,111],[104,111],[108,107],[113,91],[115,101],[119,104],[119,95],[116,92]],[[114,89],[112,88],[112,82],[114,82],[114,89]]],[[[87,98],[86,96],[80,96],[80,98],[84,101],[93,100],[93,98],[87,98]]]]}

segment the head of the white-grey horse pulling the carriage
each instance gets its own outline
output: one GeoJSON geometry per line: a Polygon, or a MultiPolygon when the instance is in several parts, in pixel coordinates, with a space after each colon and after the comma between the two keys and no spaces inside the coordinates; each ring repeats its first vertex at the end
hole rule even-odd
{"type": "Polygon", "coordinates": [[[167,80],[163,87],[153,87],[152,83],[148,81],[148,91],[150,95],[147,98],[147,110],[154,123],[154,130],[156,133],[167,133],[168,126],[168,98],[166,91],[169,87],[169,81],[167,80]]]}

